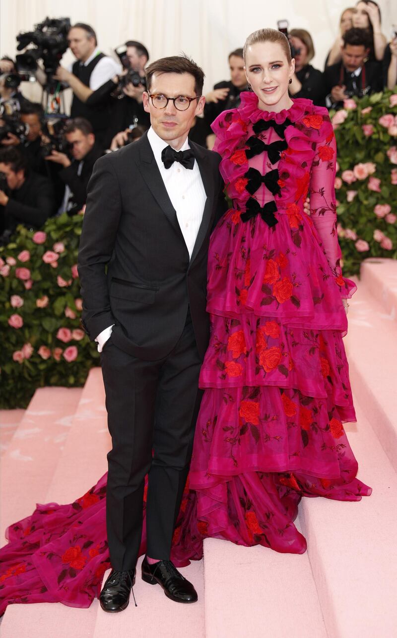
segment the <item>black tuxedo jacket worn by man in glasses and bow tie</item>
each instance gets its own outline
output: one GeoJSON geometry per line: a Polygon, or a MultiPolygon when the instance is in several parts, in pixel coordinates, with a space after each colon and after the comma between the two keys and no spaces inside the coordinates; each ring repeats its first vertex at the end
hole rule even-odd
{"type": "Polygon", "coordinates": [[[225,201],[220,156],[190,146],[207,195],[191,259],[147,134],[98,159],[88,186],[79,252],[82,323],[91,340],[114,323],[113,343],[139,359],[171,352],[189,307],[201,357],[209,341],[207,251],[225,201]]]}

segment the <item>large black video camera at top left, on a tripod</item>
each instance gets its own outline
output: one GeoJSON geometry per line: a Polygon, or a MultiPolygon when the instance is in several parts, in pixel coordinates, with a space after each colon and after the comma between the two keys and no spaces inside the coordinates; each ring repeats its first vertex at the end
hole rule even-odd
{"type": "Polygon", "coordinates": [[[34,25],[34,31],[26,31],[17,35],[17,49],[22,49],[33,44],[34,47],[16,56],[15,66],[19,74],[32,77],[37,69],[38,59],[43,60],[44,70],[47,73],[48,85],[52,85],[52,76],[56,72],[61,58],[66,52],[68,33],[70,31],[69,18],[46,18],[43,22],[34,25]]]}

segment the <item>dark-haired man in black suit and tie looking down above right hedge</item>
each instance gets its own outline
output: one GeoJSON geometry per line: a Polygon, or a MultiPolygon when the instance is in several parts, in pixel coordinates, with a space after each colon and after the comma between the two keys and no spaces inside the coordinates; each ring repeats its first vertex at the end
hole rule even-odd
{"type": "Polygon", "coordinates": [[[349,29],[343,36],[341,61],[324,71],[327,108],[343,108],[343,100],[383,91],[382,65],[364,62],[370,52],[365,29],[349,29]]]}

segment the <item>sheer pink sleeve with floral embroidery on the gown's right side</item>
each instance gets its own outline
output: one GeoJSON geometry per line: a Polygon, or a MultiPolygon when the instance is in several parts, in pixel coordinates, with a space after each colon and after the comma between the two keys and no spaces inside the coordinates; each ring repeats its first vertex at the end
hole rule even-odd
{"type": "Polygon", "coordinates": [[[331,122],[324,122],[325,134],[315,148],[315,158],[311,168],[310,209],[311,219],[326,253],[341,296],[350,298],[356,292],[354,281],[345,279],[341,271],[341,249],[336,230],[336,140],[331,122]]]}

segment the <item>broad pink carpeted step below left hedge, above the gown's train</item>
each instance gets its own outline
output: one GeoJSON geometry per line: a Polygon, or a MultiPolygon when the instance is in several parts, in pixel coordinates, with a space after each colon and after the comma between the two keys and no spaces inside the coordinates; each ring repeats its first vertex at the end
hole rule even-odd
{"type": "Polygon", "coordinates": [[[81,393],[80,388],[36,390],[1,461],[1,538],[8,525],[44,502],[81,393]]]}

